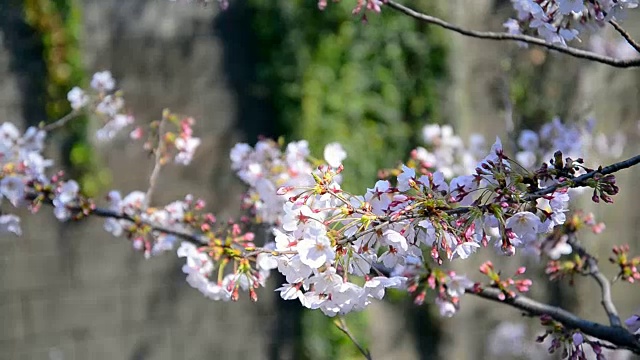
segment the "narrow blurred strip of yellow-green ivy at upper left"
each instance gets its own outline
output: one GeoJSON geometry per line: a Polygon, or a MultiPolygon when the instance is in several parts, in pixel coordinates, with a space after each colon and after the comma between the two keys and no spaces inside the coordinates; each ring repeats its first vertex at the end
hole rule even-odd
{"type": "MultiPolygon", "coordinates": [[[[71,111],[67,93],[86,82],[80,50],[82,14],[76,0],[25,0],[26,22],[42,39],[47,69],[45,109],[50,121],[71,111]]],[[[109,181],[106,170],[98,171],[95,155],[87,139],[88,118],[79,117],[65,127],[63,155],[70,176],[79,179],[86,195],[95,195],[109,181]]]]}

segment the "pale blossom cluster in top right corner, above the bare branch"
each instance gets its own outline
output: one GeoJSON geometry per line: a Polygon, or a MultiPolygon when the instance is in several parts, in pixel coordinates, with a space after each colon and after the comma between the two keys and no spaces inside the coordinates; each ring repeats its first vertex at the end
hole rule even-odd
{"type": "Polygon", "coordinates": [[[636,8],[638,0],[511,0],[517,19],[509,19],[504,26],[509,33],[521,34],[531,29],[547,42],[566,46],[567,41],[579,39],[585,29],[603,26],[609,20],[623,16],[627,9],[636,8]]]}

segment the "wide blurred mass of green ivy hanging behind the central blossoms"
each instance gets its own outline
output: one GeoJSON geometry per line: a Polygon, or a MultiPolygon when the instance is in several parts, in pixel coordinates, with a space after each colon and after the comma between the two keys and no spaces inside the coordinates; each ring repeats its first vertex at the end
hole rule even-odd
{"type": "Polygon", "coordinates": [[[427,120],[437,121],[446,65],[440,32],[385,9],[362,23],[351,15],[354,1],[330,2],[323,12],[314,1],[250,4],[259,77],[278,130],[309,140],[317,154],[342,143],[346,189],[372,184],[377,169],[406,157],[427,120]]]}

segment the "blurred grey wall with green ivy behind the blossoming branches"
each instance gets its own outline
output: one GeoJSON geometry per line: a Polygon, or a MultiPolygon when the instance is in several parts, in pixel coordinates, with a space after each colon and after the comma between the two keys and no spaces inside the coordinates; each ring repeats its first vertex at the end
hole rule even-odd
{"type": "MultiPolygon", "coordinates": [[[[475,29],[501,29],[512,14],[509,1],[405,3],[475,29]]],[[[640,70],[463,38],[390,10],[364,24],[353,6],[342,0],[320,12],[316,0],[231,0],[221,12],[215,3],[168,0],[0,0],[0,121],[24,128],[57,119],[69,111],[72,86],[111,70],[138,121],[159,119],[163,108],[198,121],[194,163],[164,172],[157,202],[191,193],[221,219],[240,214],[243,191],[229,150],[260,135],[304,138],[317,154],[340,141],[349,154],[345,187],[360,193],[378,168],[406,158],[427,123],[491,139],[506,136],[507,119],[537,129],[555,115],[594,115],[600,130],[626,133],[625,155],[640,151],[640,70]]],[[[624,26],[637,39],[631,15],[624,26]]],[[[604,36],[618,39],[610,29],[604,36]]],[[[50,139],[49,156],[98,198],[145,189],[152,161],[140,144],[122,136],[101,146],[94,130],[90,119],[75,121],[50,139]]],[[[584,240],[610,275],[612,244],[640,250],[640,172],[627,170],[619,182],[613,205],[593,207],[586,195],[582,204],[607,224],[584,240]]],[[[145,260],[101,227],[93,219],[62,225],[43,212],[23,217],[21,238],[0,238],[0,359],[361,358],[319,312],[270,289],[257,304],[212,302],[184,281],[175,256],[145,260]]],[[[486,258],[515,269],[483,254],[457,269],[473,276],[486,258]]],[[[536,299],[606,320],[589,279],[573,288],[536,283],[544,264],[528,265],[536,299]]],[[[614,300],[626,318],[640,306],[640,289],[616,284],[614,300]]],[[[471,297],[440,319],[437,309],[393,294],[347,322],[375,359],[549,357],[533,342],[537,320],[471,297]]]]}

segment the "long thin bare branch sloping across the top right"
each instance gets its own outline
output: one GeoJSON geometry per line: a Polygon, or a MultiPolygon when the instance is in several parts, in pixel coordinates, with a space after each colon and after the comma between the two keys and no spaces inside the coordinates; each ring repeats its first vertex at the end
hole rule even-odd
{"type": "Polygon", "coordinates": [[[440,18],[423,14],[416,10],[413,10],[409,7],[406,7],[402,4],[399,4],[393,0],[385,0],[384,4],[394,10],[404,13],[412,18],[424,21],[429,24],[437,25],[447,30],[451,30],[457,32],[458,34],[462,34],[465,36],[470,36],[478,39],[488,39],[488,40],[512,40],[512,41],[522,41],[527,44],[542,46],[547,49],[556,50],[558,52],[580,58],[591,60],[595,62],[599,62],[602,64],[610,65],[613,67],[619,68],[629,68],[629,67],[638,67],[640,66],[640,58],[639,59],[616,59],[610,56],[600,55],[592,51],[577,49],[569,46],[562,46],[557,44],[552,44],[544,39],[540,39],[534,36],[522,35],[522,34],[509,34],[506,32],[491,32],[491,31],[477,31],[477,30],[469,30],[461,28],[457,25],[448,23],[440,18]]]}

